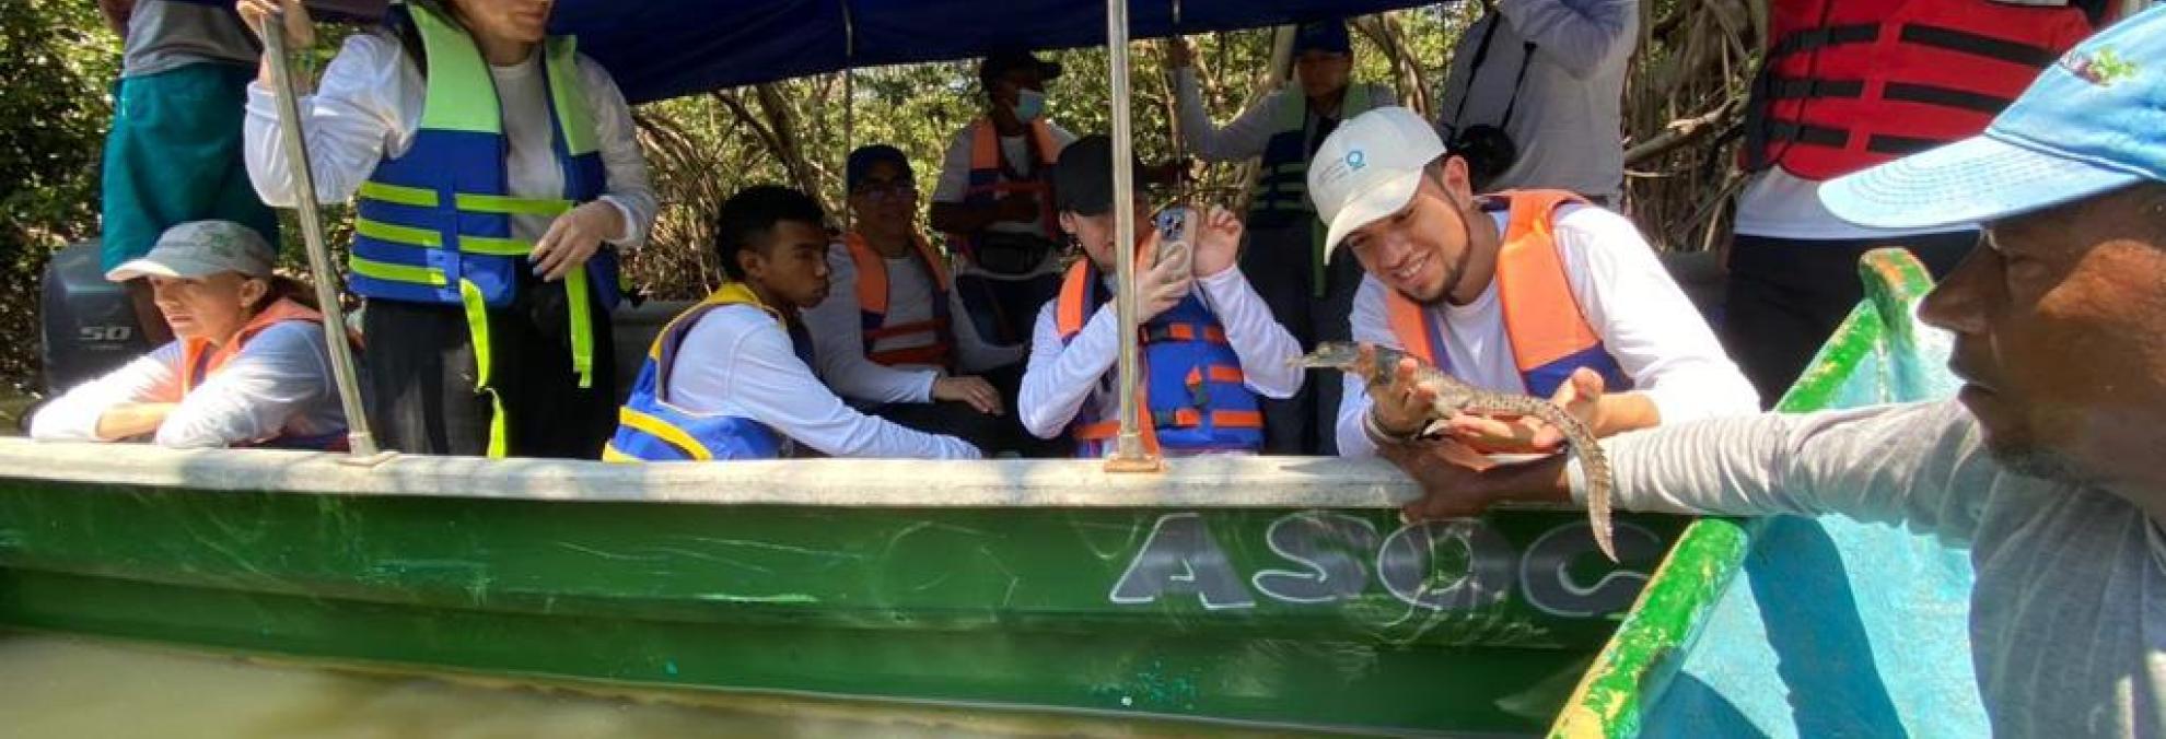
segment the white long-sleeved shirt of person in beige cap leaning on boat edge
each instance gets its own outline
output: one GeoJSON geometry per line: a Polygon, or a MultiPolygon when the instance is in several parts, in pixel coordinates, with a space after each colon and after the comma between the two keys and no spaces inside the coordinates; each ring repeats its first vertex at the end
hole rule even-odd
{"type": "Polygon", "coordinates": [[[30,438],[100,442],[97,418],[121,403],[180,403],[158,425],[158,446],[230,446],[347,429],[318,323],[286,321],[258,332],[186,397],[180,358],[180,342],[167,342],[67,390],[30,418],[30,438]]]}

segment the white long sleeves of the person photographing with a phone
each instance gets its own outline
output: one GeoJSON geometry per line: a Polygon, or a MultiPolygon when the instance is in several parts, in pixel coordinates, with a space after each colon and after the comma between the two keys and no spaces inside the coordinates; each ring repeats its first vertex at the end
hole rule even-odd
{"type": "MultiPolygon", "coordinates": [[[[1107,284],[1111,288],[1111,282],[1107,284]]],[[[1293,366],[1302,345],[1271,319],[1256,288],[1239,267],[1211,277],[1198,277],[1196,290],[1211,314],[1226,327],[1226,345],[1241,360],[1243,386],[1267,399],[1291,399],[1302,390],[1304,371],[1293,366]]],[[[1107,301],[1092,312],[1074,340],[1061,345],[1055,310],[1046,301],[1031,329],[1031,364],[1022,373],[1016,412],[1022,427],[1038,438],[1055,438],[1087,407],[1092,416],[1109,416],[1118,403],[1115,371],[1120,360],[1120,319],[1107,301]]]]}

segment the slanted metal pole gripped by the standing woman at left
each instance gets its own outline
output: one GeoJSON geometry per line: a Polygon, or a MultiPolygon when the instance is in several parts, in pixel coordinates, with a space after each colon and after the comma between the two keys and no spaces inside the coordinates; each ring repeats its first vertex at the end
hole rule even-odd
{"type": "Polygon", "coordinates": [[[338,384],[338,405],[347,412],[347,446],[355,457],[375,457],[377,438],[368,433],[368,412],[362,410],[362,386],[353,371],[353,347],[347,345],[347,314],[338,310],[338,273],[331,271],[331,249],[323,245],[323,219],[316,215],[316,173],[308,167],[308,141],[301,132],[301,102],[292,89],[292,67],[286,59],[286,20],[277,13],[264,20],[264,56],[271,59],[271,91],[277,95],[277,126],[292,169],[295,206],[301,215],[301,243],[308,245],[308,271],[316,282],[316,303],[323,306],[323,340],[331,347],[331,379],[338,384]]]}

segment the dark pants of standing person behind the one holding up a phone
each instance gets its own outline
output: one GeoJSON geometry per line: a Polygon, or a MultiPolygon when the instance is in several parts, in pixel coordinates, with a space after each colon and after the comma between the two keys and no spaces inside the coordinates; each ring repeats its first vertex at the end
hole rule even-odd
{"type": "MultiPolygon", "coordinates": [[[[1317,342],[1347,340],[1354,334],[1354,293],[1360,288],[1360,262],[1341,251],[1323,271],[1326,293],[1317,299],[1313,217],[1291,225],[1252,228],[1241,249],[1241,275],[1263,303],[1271,308],[1302,351],[1317,342]]],[[[1339,373],[1308,371],[1302,392],[1291,399],[1263,399],[1263,451],[1269,455],[1336,455],[1339,438],[1339,373]]]]}

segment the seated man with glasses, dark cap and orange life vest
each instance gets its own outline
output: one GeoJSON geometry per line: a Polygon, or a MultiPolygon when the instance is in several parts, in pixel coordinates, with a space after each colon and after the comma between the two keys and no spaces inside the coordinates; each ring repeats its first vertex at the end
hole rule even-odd
{"type": "Polygon", "coordinates": [[[1022,345],[988,345],[964,314],[947,258],[916,230],[910,158],[864,145],[849,152],[843,180],[851,232],[827,247],[827,299],[804,312],[821,379],[873,416],[988,453],[1012,449],[1020,433],[1001,390],[951,373],[1018,364],[1022,345]]]}

